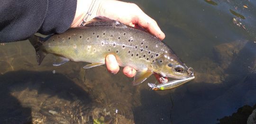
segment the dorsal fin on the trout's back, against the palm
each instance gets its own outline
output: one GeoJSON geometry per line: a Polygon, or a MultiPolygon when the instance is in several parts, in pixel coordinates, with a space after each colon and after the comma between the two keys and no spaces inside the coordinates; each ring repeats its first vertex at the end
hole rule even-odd
{"type": "Polygon", "coordinates": [[[116,20],[112,20],[110,18],[106,18],[106,17],[95,17],[92,18],[90,21],[85,23],[84,27],[95,27],[95,26],[117,26],[117,27],[127,27],[125,24],[116,21],[116,20]]]}

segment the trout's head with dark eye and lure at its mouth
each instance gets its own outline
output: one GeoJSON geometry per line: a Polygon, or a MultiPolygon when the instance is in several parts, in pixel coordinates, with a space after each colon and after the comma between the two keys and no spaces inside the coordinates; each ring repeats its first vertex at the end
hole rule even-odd
{"type": "Polygon", "coordinates": [[[151,63],[152,70],[163,77],[186,79],[193,76],[192,68],[188,68],[181,60],[171,53],[160,55],[151,63]]]}

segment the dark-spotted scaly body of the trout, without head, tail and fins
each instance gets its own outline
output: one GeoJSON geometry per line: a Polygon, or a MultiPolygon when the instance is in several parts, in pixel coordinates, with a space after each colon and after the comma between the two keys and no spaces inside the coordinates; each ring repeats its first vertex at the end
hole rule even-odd
{"type": "Polygon", "coordinates": [[[145,70],[157,57],[156,54],[162,54],[168,49],[154,36],[144,35],[148,33],[128,27],[69,29],[65,34],[50,37],[50,45],[43,46],[48,53],[66,54],[65,57],[75,62],[105,62],[106,55],[114,54],[120,66],[128,65],[136,70],[145,70]]]}

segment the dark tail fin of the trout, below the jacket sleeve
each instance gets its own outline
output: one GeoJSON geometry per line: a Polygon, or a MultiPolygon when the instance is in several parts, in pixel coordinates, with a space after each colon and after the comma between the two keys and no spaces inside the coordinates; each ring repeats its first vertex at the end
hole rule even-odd
{"type": "Polygon", "coordinates": [[[46,52],[43,51],[42,45],[44,42],[44,38],[39,37],[37,35],[33,35],[31,38],[28,39],[29,42],[34,46],[36,50],[36,58],[37,64],[40,65],[43,59],[46,57],[46,52]]]}

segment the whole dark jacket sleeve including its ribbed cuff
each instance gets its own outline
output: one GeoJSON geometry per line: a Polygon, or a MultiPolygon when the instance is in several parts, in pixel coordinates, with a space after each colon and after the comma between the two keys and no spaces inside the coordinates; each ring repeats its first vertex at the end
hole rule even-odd
{"type": "Polygon", "coordinates": [[[72,24],[76,0],[0,0],[0,43],[39,32],[63,33],[72,24]]]}

